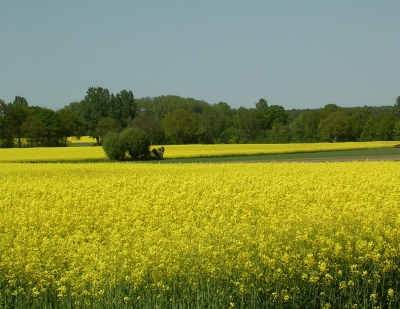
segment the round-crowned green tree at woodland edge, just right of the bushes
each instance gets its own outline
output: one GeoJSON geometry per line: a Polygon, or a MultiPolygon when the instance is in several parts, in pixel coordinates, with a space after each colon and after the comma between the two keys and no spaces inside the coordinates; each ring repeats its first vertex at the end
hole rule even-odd
{"type": "Polygon", "coordinates": [[[177,109],[164,118],[161,126],[166,137],[170,138],[174,144],[185,144],[193,142],[198,121],[194,114],[184,109],[177,109]]]}

